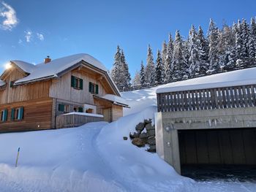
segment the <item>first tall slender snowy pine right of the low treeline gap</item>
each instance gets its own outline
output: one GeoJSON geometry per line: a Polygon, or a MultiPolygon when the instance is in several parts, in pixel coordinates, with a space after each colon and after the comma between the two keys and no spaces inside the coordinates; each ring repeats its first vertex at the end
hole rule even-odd
{"type": "Polygon", "coordinates": [[[154,58],[150,45],[148,45],[147,64],[145,69],[146,83],[154,85],[155,82],[155,67],[154,58]]]}

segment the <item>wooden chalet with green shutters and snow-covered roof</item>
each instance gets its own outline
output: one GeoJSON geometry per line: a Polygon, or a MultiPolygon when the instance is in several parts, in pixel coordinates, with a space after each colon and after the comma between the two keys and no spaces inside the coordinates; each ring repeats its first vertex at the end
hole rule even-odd
{"type": "Polygon", "coordinates": [[[119,97],[105,66],[88,54],[37,65],[10,61],[0,77],[0,131],[56,128],[56,118],[69,112],[111,122],[128,107],[119,97]]]}

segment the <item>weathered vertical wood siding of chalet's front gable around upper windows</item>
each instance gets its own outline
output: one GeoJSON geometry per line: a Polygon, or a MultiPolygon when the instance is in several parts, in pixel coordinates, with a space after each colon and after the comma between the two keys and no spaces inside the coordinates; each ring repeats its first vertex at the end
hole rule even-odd
{"type": "Polygon", "coordinates": [[[102,83],[97,80],[97,76],[85,74],[84,72],[67,72],[50,86],[50,97],[73,101],[80,104],[94,104],[94,98],[89,93],[89,82],[99,85],[99,96],[105,95],[106,91],[102,83]],[[83,79],[83,90],[71,87],[71,75],[83,79]]]}

